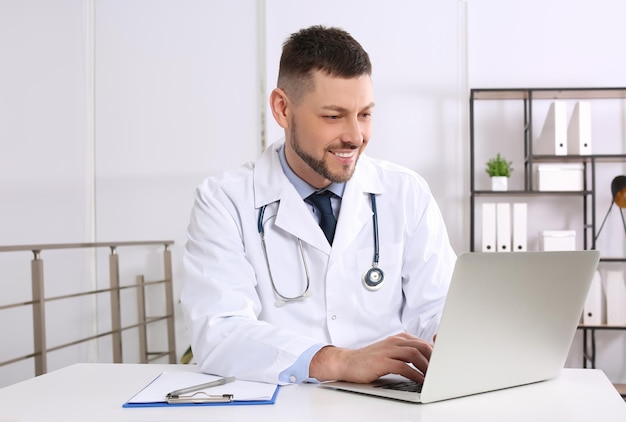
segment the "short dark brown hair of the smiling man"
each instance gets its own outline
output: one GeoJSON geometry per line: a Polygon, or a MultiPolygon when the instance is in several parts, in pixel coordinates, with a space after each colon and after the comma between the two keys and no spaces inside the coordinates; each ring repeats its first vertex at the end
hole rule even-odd
{"type": "Polygon", "coordinates": [[[369,55],[361,44],[340,28],[321,25],[291,34],[283,44],[278,88],[295,102],[313,87],[313,72],[355,78],[372,74],[369,55]]]}

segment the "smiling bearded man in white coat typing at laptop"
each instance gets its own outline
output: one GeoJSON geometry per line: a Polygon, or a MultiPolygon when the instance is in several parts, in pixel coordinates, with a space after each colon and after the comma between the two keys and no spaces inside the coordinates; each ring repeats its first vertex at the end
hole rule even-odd
{"type": "Polygon", "coordinates": [[[181,301],[202,371],[423,381],[456,257],[426,182],[363,154],[370,75],[347,32],[293,34],[270,95],[284,142],[198,187],[181,301]]]}

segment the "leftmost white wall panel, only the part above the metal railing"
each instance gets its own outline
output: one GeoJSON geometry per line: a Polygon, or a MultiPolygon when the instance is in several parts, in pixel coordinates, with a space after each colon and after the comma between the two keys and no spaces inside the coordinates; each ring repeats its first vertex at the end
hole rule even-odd
{"type": "Polygon", "coordinates": [[[0,242],[69,242],[90,225],[80,0],[0,7],[0,242]]]}

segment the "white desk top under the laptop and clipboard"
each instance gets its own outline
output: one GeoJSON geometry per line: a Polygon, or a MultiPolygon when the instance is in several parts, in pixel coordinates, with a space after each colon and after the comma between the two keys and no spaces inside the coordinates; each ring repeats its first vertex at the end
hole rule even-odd
{"type": "Polygon", "coordinates": [[[564,369],[558,379],[430,404],[282,387],[276,404],[124,409],[163,371],[194,365],[77,364],[0,389],[0,421],[626,421],[626,403],[603,372],[564,369]]]}

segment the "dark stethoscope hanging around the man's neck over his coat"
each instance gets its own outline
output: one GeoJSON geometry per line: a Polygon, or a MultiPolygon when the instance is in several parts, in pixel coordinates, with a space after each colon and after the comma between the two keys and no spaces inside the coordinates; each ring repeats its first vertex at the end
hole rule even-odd
{"type": "MultiPolygon", "coordinates": [[[[372,203],[372,221],[374,223],[374,258],[372,260],[372,267],[365,271],[363,277],[361,278],[363,281],[363,285],[368,290],[378,290],[381,288],[383,281],[385,281],[385,273],[378,267],[379,260],[379,241],[378,241],[378,211],[376,210],[376,196],[373,193],[370,193],[370,201],[372,203]]],[[[276,306],[282,306],[286,303],[296,302],[307,297],[311,296],[311,292],[309,291],[309,287],[311,285],[311,279],[309,277],[309,266],[306,261],[306,257],[304,256],[304,249],[302,248],[302,241],[300,238],[298,239],[298,248],[300,249],[300,256],[302,257],[302,263],[304,265],[304,273],[306,274],[306,287],[304,291],[297,296],[285,296],[281,294],[276,288],[276,284],[274,283],[274,277],[272,276],[272,269],[270,267],[270,260],[267,255],[267,246],[265,244],[265,228],[263,227],[263,215],[265,214],[265,208],[267,205],[263,205],[259,210],[259,219],[257,221],[257,228],[259,230],[259,236],[261,237],[261,246],[263,248],[263,255],[265,256],[265,263],[267,265],[267,272],[270,276],[270,282],[272,283],[272,289],[274,293],[278,297],[276,300],[276,306]]],[[[275,216],[274,216],[275,217],[275,216]]],[[[269,221],[269,219],[268,219],[269,221]]]]}

